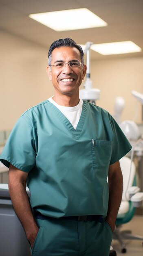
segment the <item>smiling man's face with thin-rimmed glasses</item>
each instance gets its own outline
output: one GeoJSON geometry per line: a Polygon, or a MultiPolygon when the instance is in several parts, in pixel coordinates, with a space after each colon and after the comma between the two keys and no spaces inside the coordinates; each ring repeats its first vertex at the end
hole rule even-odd
{"type": "MultiPolygon", "coordinates": [[[[75,47],[59,47],[52,52],[51,65],[57,62],[69,63],[69,61],[81,62],[80,52],[75,47]]],[[[71,68],[66,65],[60,69],[55,66],[47,67],[49,79],[52,81],[57,94],[78,94],[79,86],[86,74],[86,65],[71,68]]]]}

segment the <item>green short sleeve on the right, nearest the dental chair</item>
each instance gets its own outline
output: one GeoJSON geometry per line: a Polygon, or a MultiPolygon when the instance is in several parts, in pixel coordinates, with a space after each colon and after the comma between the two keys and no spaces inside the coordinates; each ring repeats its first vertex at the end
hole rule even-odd
{"type": "Polygon", "coordinates": [[[112,116],[110,123],[113,131],[113,146],[110,164],[114,164],[126,155],[132,149],[132,146],[112,116]]]}

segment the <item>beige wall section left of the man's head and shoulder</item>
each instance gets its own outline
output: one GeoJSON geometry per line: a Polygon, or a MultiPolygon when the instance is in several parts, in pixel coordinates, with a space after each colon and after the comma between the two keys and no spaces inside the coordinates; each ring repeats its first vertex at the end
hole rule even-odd
{"type": "Polygon", "coordinates": [[[0,130],[11,129],[28,108],[53,94],[46,74],[48,50],[0,32],[0,130]]]}

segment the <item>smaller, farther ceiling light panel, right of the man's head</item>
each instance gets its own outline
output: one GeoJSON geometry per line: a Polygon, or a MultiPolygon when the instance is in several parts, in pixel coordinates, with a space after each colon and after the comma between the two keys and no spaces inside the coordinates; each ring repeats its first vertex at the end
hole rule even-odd
{"type": "Polygon", "coordinates": [[[96,44],[91,45],[91,49],[102,55],[125,54],[142,51],[142,49],[132,41],[96,44]]]}

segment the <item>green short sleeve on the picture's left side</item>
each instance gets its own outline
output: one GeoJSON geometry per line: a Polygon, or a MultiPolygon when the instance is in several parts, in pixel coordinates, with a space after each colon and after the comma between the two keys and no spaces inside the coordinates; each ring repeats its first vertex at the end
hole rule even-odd
{"type": "Polygon", "coordinates": [[[24,117],[15,124],[0,155],[0,161],[9,168],[11,163],[21,171],[29,172],[35,166],[33,126],[24,117]]]}

